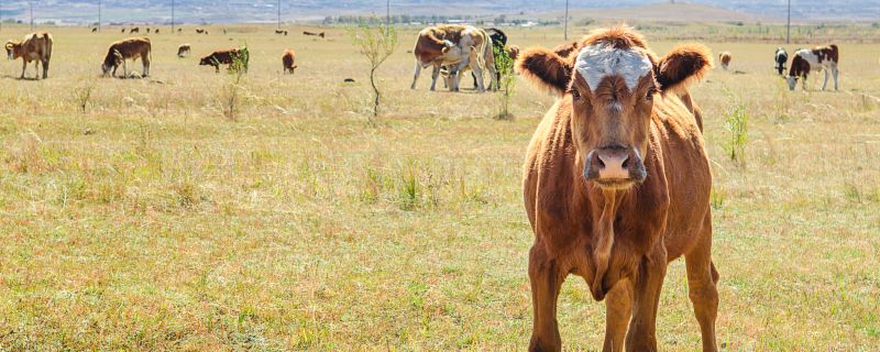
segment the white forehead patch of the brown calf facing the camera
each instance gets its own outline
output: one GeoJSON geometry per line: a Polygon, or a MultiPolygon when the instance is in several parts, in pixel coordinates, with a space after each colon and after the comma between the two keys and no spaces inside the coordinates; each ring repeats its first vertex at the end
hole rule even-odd
{"type": "Polygon", "coordinates": [[[626,87],[631,91],[638,85],[639,78],[649,74],[652,68],[648,55],[635,48],[615,48],[604,43],[585,46],[574,62],[574,69],[586,79],[594,92],[602,79],[612,75],[624,77],[626,87]]]}

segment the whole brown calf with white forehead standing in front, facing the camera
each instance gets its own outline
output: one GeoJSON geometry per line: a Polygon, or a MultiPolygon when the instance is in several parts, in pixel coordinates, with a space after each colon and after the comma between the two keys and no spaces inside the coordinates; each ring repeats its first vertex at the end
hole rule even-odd
{"type": "Polygon", "coordinates": [[[689,85],[712,66],[703,45],[657,57],[627,26],[597,30],[576,54],[534,48],[517,62],[560,99],[529,144],[525,204],[534,322],[530,351],[560,351],[566,276],[605,299],[604,351],[657,351],[668,263],[684,256],[703,351],[717,351],[712,172],[689,85]],[[627,328],[628,324],[628,328],[627,328]]]}

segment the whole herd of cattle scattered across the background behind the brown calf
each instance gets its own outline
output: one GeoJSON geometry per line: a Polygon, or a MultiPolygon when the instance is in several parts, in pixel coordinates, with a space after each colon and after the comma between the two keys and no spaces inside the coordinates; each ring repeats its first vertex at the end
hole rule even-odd
{"type": "MultiPolygon", "coordinates": [[[[129,33],[140,33],[140,28],[129,29],[129,33]]],[[[96,32],[92,29],[92,32],[96,32]]],[[[122,29],[125,33],[127,29],[122,29]]],[[[177,29],[182,32],[183,29],[177,29]]],[[[150,33],[151,29],[147,28],[146,32],[150,33]]],[[[160,33],[160,29],[152,30],[153,33],[160,33]]],[[[196,29],[198,34],[208,34],[207,30],[196,29]]],[[[287,35],[287,30],[275,30],[276,34],[287,35]]],[[[302,32],[304,35],[314,35],[324,37],[324,32],[302,32]]],[[[574,51],[578,42],[563,43],[553,48],[553,52],[561,56],[566,57],[574,51]]],[[[46,32],[36,32],[25,35],[22,41],[8,41],[7,54],[10,59],[21,57],[23,61],[21,78],[24,74],[28,64],[35,62],[34,68],[37,70],[36,77],[40,77],[38,65],[43,67],[43,78],[48,77],[50,59],[52,57],[52,35],[46,32]]],[[[484,81],[484,73],[490,76],[490,89],[497,89],[499,87],[501,67],[499,63],[495,59],[495,53],[506,53],[513,61],[516,61],[519,55],[519,47],[516,45],[507,45],[507,35],[498,29],[480,29],[471,25],[454,25],[441,24],[429,26],[418,33],[413,53],[416,56],[416,70],[413,77],[410,88],[416,88],[421,70],[428,66],[432,66],[431,73],[431,90],[437,88],[437,79],[442,76],[443,84],[451,91],[459,90],[460,76],[462,73],[471,72],[474,79],[474,88],[477,91],[485,91],[486,85],[484,81]]],[[[178,47],[177,56],[183,58],[190,54],[191,45],[183,44],[178,47]]],[[[114,42],[110,45],[107,56],[102,64],[102,72],[105,75],[111,74],[116,76],[117,68],[123,67],[124,77],[128,77],[128,69],[125,61],[141,59],[143,64],[142,76],[150,75],[150,61],[151,61],[152,46],[150,38],[145,36],[130,37],[127,40],[114,42]]],[[[220,70],[220,65],[229,65],[232,68],[233,62],[237,58],[248,59],[243,56],[238,48],[217,51],[202,57],[199,65],[213,66],[216,72],[220,70]]],[[[718,61],[724,69],[727,69],[733,59],[733,54],[729,52],[722,52],[718,55],[718,61]]],[[[780,47],[773,55],[776,69],[780,76],[784,74],[785,64],[788,63],[789,55],[784,48],[780,47]]],[[[806,89],[807,76],[811,72],[824,72],[825,81],[822,89],[825,90],[828,84],[828,76],[834,78],[834,89],[838,88],[838,70],[837,63],[839,59],[839,51],[837,45],[831,44],[827,46],[818,46],[812,50],[800,48],[794,52],[788,75],[783,76],[789,85],[790,90],[794,90],[798,80],[803,84],[803,89],[806,89]]],[[[282,54],[282,65],[285,74],[293,74],[297,67],[295,65],[296,54],[293,50],[287,48],[282,54]]],[[[246,64],[246,63],[245,63],[246,64]]],[[[246,67],[246,65],[245,65],[246,67]]]]}

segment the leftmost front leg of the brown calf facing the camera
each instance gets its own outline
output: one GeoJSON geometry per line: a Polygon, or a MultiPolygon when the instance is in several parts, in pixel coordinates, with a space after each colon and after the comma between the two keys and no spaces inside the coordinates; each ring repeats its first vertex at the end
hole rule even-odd
{"type": "Polygon", "coordinates": [[[557,322],[557,300],[568,271],[551,258],[543,243],[536,242],[529,252],[532,321],[529,351],[561,351],[562,338],[557,322]]]}

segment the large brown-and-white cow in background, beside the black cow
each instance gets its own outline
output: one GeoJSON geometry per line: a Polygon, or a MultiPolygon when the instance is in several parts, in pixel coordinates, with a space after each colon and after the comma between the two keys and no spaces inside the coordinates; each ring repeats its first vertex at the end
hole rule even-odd
{"type": "Polygon", "coordinates": [[[411,89],[416,88],[421,69],[433,65],[431,74],[431,90],[437,87],[437,77],[442,66],[449,66],[452,84],[451,91],[459,90],[459,73],[465,68],[473,70],[476,77],[476,88],[484,91],[483,69],[490,72],[492,78],[490,87],[496,87],[495,58],[492,53],[492,42],[485,31],[465,25],[441,24],[429,26],[416,40],[413,51],[416,56],[416,72],[413,77],[411,89]],[[471,52],[476,52],[471,55],[471,52]]]}

